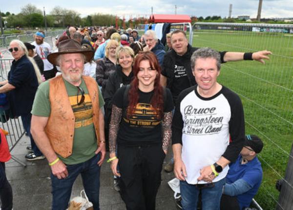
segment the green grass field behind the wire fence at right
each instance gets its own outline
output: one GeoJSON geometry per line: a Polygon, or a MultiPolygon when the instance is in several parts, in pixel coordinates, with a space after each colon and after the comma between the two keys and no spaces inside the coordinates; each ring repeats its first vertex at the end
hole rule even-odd
{"type": "Polygon", "coordinates": [[[277,179],[284,177],[293,143],[293,37],[239,31],[194,31],[193,46],[218,51],[270,50],[270,60],[238,61],[222,65],[219,82],[240,95],[246,134],[259,135],[265,144],[259,159],[263,182],[255,200],[264,210],[275,209],[277,179]]]}

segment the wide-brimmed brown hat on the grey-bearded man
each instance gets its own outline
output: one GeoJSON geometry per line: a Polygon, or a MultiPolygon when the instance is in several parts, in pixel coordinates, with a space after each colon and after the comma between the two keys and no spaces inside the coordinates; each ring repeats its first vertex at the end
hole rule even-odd
{"type": "Polygon", "coordinates": [[[85,62],[91,61],[94,56],[94,52],[92,50],[83,49],[82,45],[74,40],[74,39],[66,39],[58,44],[58,52],[51,53],[47,56],[47,59],[53,65],[59,66],[57,63],[57,57],[62,54],[70,54],[70,53],[81,53],[85,56],[85,62]]]}

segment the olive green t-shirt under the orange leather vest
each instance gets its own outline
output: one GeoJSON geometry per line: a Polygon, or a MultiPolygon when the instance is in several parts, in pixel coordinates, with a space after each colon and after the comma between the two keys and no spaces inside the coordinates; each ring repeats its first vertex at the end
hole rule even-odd
{"type": "MultiPolygon", "coordinates": [[[[84,80],[82,79],[80,85],[84,90],[85,96],[84,103],[81,105],[78,105],[78,102],[81,100],[81,92],[76,86],[70,84],[64,79],[63,81],[75,116],[75,125],[72,154],[66,158],[63,158],[60,155],[58,155],[58,157],[63,163],[72,165],[82,163],[92,158],[95,155],[98,145],[92,118],[92,103],[84,80]]],[[[99,89],[100,108],[102,108],[104,104],[105,102],[99,89]]],[[[31,113],[36,116],[50,116],[51,104],[49,99],[49,81],[45,81],[39,86],[31,113]]]]}

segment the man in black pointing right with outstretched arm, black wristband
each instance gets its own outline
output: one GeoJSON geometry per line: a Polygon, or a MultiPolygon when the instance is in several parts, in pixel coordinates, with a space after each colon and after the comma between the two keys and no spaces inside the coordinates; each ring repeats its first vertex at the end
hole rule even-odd
{"type": "MultiPolygon", "coordinates": [[[[190,68],[190,57],[197,47],[188,44],[188,39],[184,31],[175,30],[171,33],[172,49],[167,51],[162,65],[162,75],[160,83],[170,89],[174,104],[178,95],[186,88],[196,84],[190,68]]],[[[256,60],[265,63],[264,59],[270,59],[268,55],[270,51],[258,51],[254,53],[242,52],[219,52],[221,62],[240,61],[240,60],[256,60]]],[[[166,172],[173,171],[173,160],[165,167],[166,172]]]]}

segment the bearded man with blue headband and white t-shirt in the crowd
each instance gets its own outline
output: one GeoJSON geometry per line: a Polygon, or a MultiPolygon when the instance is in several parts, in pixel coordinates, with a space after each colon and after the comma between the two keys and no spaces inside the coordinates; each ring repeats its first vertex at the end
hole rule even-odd
{"type": "Polygon", "coordinates": [[[38,31],[35,34],[35,41],[32,42],[32,45],[36,46],[36,53],[42,58],[44,62],[44,72],[43,75],[46,80],[55,77],[56,68],[53,64],[47,60],[47,56],[52,52],[51,46],[44,41],[45,34],[42,31],[38,31]]]}

